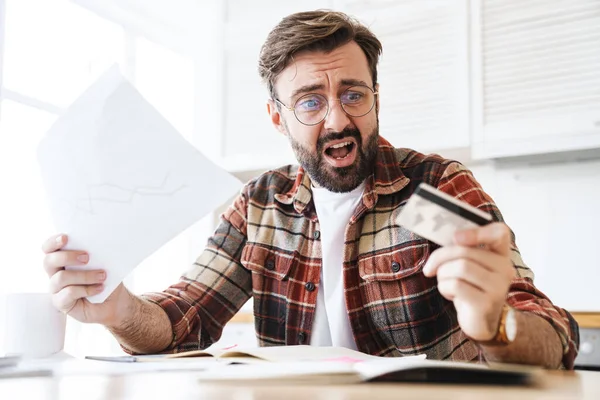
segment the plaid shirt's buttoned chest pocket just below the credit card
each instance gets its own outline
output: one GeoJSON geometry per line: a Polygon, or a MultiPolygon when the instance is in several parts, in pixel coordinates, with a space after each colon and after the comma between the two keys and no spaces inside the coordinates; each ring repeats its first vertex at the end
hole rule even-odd
{"type": "Polygon", "coordinates": [[[423,275],[430,253],[427,240],[415,240],[359,258],[362,294],[378,330],[424,324],[439,314],[437,281],[423,275]]]}

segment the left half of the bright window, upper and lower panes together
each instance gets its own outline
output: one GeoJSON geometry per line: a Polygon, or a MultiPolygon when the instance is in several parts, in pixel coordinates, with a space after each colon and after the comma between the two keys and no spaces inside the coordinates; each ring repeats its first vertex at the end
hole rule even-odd
{"type": "Polygon", "coordinates": [[[53,230],[37,145],[104,68],[122,63],[125,37],[118,25],[66,0],[4,3],[0,237],[11,250],[0,253],[0,290],[44,291],[40,245],[53,230]]]}

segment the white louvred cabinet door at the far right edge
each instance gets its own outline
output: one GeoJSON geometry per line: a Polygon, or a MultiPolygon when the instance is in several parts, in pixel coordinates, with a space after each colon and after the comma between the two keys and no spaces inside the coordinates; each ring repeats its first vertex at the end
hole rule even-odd
{"type": "Polygon", "coordinates": [[[474,158],[600,148],[600,0],[471,6],[474,158]]]}

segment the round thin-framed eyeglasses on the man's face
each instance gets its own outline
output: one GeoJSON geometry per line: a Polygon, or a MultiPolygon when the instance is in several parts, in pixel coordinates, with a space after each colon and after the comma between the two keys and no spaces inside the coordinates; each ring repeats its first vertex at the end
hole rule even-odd
{"type": "MultiPolygon", "coordinates": [[[[340,95],[342,110],[351,117],[362,117],[367,115],[375,105],[375,92],[368,86],[351,86],[340,95]]],[[[296,119],[308,126],[320,124],[329,115],[329,102],[323,95],[310,93],[300,97],[294,103],[294,107],[288,107],[279,99],[275,99],[282,107],[293,111],[296,119]]]]}

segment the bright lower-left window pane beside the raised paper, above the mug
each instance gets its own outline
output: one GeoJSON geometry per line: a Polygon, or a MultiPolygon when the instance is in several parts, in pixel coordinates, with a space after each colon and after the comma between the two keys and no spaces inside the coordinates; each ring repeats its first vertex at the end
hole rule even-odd
{"type": "Polygon", "coordinates": [[[52,224],[35,148],[55,114],[12,100],[0,112],[0,291],[45,290],[40,246],[52,224]]]}

